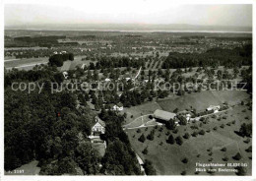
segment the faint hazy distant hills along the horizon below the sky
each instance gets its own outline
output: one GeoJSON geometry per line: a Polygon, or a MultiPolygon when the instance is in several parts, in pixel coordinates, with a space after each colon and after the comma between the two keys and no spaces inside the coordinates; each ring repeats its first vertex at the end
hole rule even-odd
{"type": "Polygon", "coordinates": [[[5,30],[138,30],[138,31],[252,31],[252,27],[194,26],[188,24],[47,24],[6,26],[5,30]]]}

